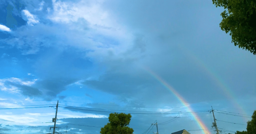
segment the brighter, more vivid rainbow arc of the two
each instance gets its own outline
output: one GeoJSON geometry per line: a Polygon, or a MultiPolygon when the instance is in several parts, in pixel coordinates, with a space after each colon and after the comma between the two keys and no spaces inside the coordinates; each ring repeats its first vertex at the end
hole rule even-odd
{"type": "MultiPolygon", "coordinates": [[[[162,78],[160,78],[158,75],[156,75],[153,71],[149,70],[148,68],[145,68],[146,71],[150,75],[152,75],[154,78],[156,78],[161,84],[164,85],[164,87],[168,90],[170,90],[176,98],[184,105],[187,107],[188,111],[193,111],[191,107],[189,107],[189,103],[176,91],[174,90],[168,83],[166,83],[162,78]]],[[[202,129],[202,132],[204,134],[211,134],[210,130],[205,126],[204,122],[199,118],[199,116],[196,113],[191,113],[191,115],[195,118],[198,126],[202,129]]]]}

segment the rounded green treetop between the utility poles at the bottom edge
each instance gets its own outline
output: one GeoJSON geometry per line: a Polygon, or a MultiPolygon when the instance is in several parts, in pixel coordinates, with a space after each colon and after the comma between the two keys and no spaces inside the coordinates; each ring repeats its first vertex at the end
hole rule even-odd
{"type": "Polygon", "coordinates": [[[108,117],[108,124],[100,129],[101,134],[132,134],[133,129],[128,125],[131,121],[131,114],[111,113],[108,117]]]}

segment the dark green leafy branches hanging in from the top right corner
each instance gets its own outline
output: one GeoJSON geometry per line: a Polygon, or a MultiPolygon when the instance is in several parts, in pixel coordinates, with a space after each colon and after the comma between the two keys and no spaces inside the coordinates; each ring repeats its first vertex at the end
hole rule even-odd
{"type": "Polygon", "coordinates": [[[212,0],[224,7],[221,30],[230,32],[232,43],[256,54],[256,0],[212,0]]]}

